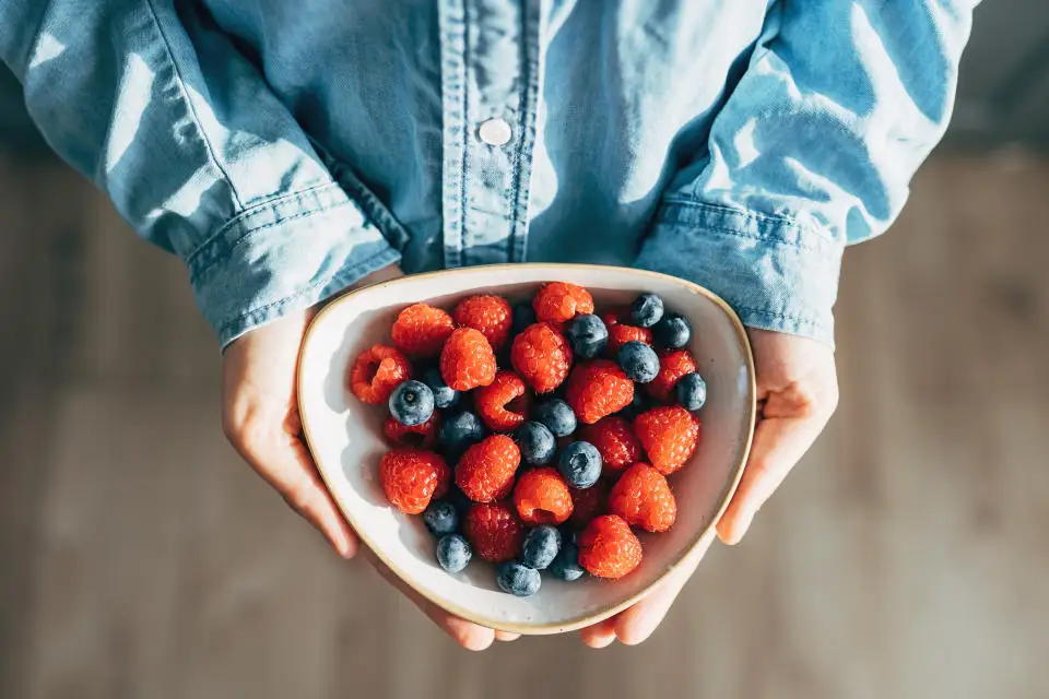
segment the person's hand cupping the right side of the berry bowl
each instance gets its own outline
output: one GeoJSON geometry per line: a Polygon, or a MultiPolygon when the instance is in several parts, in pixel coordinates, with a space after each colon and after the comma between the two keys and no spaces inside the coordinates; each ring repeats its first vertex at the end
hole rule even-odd
{"type": "MultiPolygon", "coordinates": [[[[834,352],[804,337],[764,330],[749,330],[757,376],[757,425],[743,478],[724,514],[717,523],[718,536],[736,544],[754,516],[809,450],[838,404],[834,352]]],[[[667,615],[692,576],[706,548],[687,565],[674,570],[644,600],[580,631],[593,648],[615,640],[640,643],[667,615]]]]}

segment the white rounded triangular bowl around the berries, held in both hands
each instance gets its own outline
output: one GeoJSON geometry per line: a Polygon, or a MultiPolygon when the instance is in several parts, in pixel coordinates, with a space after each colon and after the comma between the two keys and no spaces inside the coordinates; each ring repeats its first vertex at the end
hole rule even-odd
{"type": "Polygon", "coordinates": [[[625,268],[579,264],[511,264],[417,274],[362,288],[321,310],[303,343],[298,401],[317,466],[350,524],[408,584],[448,612],[483,626],[519,633],[557,633],[589,626],[626,608],[675,566],[691,562],[714,535],[714,523],[732,496],[751,446],[755,415],[754,364],[735,313],[710,292],[683,280],[625,268]],[[495,585],[494,567],[474,558],[449,574],[434,556],[434,537],[421,517],[391,507],[378,478],[389,449],[381,434],[382,406],[366,405],[346,388],[346,369],[376,343],[389,344],[397,313],[425,300],[451,309],[478,293],[516,301],[542,282],[585,286],[598,309],[655,292],[696,329],[689,350],[706,378],[700,411],[703,438],[692,462],[669,481],[677,497],[677,521],[664,534],[640,534],[640,566],[616,581],[585,577],[563,582],[543,576],[540,591],[515,597],[495,585]]]}

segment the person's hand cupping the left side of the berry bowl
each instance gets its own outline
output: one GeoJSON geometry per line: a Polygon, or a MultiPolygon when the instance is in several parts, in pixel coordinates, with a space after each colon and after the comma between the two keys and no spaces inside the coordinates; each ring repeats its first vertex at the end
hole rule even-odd
{"type": "MultiPolygon", "coordinates": [[[[390,266],[355,286],[386,281],[402,273],[390,266]]],[[[263,481],[276,489],[296,512],[323,534],[343,558],[352,558],[360,543],[317,472],[303,439],[295,394],[298,350],[315,310],[290,313],[234,341],[223,356],[223,431],[237,452],[263,481]]],[[[416,594],[375,556],[379,573],[414,602],[438,627],[464,648],[481,650],[493,640],[512,640],[515,633],[464,621],[416,594]]]]}

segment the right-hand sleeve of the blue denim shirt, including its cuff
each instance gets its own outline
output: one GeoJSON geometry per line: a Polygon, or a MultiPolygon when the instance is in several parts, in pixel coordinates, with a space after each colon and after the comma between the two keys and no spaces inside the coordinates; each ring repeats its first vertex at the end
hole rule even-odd
{"type": "Polygon", "coordinates": [[[975,4],[777,2],[637,264],[833,344],[842,250],[892,224],[942,138],[975,4]]]}

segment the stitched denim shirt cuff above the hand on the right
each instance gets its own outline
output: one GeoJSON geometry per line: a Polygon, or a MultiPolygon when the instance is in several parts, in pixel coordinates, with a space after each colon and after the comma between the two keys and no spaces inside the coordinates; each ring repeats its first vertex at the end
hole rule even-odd
{"type": "Polygon", "coordinates": [[[660,206],[637,266],[710,289],[745,325],[834,346],[844,248],[790,218],[671,200],[660,206]]]}

